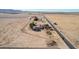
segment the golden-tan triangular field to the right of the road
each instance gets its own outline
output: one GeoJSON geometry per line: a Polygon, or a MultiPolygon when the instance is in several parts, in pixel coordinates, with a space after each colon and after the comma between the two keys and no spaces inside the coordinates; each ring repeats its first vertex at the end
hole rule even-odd
{"type": "Polygon", "coordinates": [[[79,14],[45,14],[79,48],[79,14]]]}

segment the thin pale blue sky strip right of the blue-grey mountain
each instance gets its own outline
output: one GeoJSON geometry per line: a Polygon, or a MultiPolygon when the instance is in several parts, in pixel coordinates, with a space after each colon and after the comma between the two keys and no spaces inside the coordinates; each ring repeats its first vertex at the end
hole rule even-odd
{"type": "Polygon", "coordinates": [[[79,12],[79,9],[25,9],[23,11],[43,11],[43,12],[79,12]]]}

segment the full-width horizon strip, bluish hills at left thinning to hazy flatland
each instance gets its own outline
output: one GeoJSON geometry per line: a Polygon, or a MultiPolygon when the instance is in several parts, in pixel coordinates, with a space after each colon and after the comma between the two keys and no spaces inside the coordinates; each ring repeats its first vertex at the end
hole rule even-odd
{"type": "Polygon", "coordinates": [[[79,12],[48,12],[48,11],[32,11],[32,10],[14,10],[14,9],[0,9],[0,13],[19,14],[19,13],[48,13],[48,14],[79,14],[79,12]]]}

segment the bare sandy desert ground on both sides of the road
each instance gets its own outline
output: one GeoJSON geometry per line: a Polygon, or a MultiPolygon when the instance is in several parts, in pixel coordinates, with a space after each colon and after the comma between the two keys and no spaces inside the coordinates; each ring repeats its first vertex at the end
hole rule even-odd
{"type": "MultiPolygon", "coordinates": [[[[50,21],[56,22],[57,26],[69,40],[79,48],[79,15],[71,14],[44,14],[50,21]]],[[[29,28],[30,20],[28,13],[4,14],[0,13],[0,48],[53,48],[68,49],[62,38],[51,31],[52,35],[47,35],[46,30],[35,32],[29,28]],[[51,44],[55,41],[56,44],[51,44]]],[[[44,20],[44,19],[43,19],[44,20]]],[[[49,24],[47,21],[37,22],[38,24],[49,24]]]]}

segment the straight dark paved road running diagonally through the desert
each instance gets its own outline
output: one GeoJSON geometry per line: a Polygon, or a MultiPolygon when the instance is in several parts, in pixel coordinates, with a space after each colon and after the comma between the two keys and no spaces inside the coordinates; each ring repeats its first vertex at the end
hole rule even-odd
{"type": "Polygon", "coordinates": [[[64,33],[62,31],[60,31],[60,29],[58,27],[56,27],[56,25],[54,23],[51,23],[45,16],[43,16],[48,22],[49,24],[55,29],[55,31],[59,34],[59,36],[62,38],[62,40],[67,44],[67,46],[70,49],[76,49],[76,47],[69,41],[69,39],[64,35],[64,33]]]}

